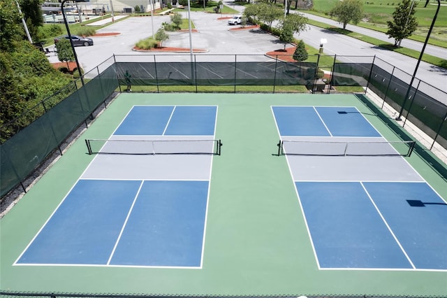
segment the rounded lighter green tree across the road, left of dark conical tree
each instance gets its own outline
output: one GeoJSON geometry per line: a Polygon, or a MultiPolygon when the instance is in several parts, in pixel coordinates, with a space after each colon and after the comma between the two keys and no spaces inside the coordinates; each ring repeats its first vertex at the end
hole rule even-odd
{"type": "Polygon", "coordinates": [[[343,24],[343,29],[346,29],[346,24],[353,22],[358,24],[363,17],[363,4],[360,0],[343,0],[337,1],[335,7],[329,12],[331,17],[335,17],[339,23],[343,24]]]}

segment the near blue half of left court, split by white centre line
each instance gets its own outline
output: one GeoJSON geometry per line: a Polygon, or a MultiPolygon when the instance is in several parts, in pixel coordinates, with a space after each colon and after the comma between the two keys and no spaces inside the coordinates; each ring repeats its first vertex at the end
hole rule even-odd
{"type": "Polygon", "coordinates": [[[207,181],[79,180],[17,264],[200,267],[207,190],[207,181]]]}

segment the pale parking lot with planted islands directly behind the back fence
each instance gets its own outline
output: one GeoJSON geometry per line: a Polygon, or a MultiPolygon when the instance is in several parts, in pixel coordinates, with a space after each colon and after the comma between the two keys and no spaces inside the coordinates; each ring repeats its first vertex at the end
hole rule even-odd
{"type": "MultiPolygon", "coordinates": [[[[187,17],[186,11],[183,17],[187,17]]],[[[196,27],[191,34],[193,48],[205,49],[203,55],[247,55],[244,59],[265,61],[265,52],[284,48],[278,38],[259,29],[232,31],[235,27],[227,24],[233,15],[191,12],[191,20],[196,27]]],[[[117,36],[93,37],[94,46],[76,47],[78,60],[87,73],[112,55],[175,55],[173,52],[137,52],[133,50],[135,43],[152,36],[163,22],[170,22],[166,15],[154,17],[129,17],[115,22],[96,33],[119,33],[117,36]],[[152,28],[152,24],[154,27],[152,28]]],[[[189,31],[168,32],[170,38],[163,42],[166,47],[189,48],[189,31]]],[[[178,53],[177,53],[178,54],[178,53]]],[[[200,54],[197,54],[200,55],[200,54]]],[[[57,55],[49,55],[50,62],[59,62],[57,55]]],[[[172,57],[170,57],[172,59],[172,57]]],[[[188,52],[175,55],[177,61],[189,61],[188,52]]],[[[221,59],[216,57],[216,59],[221,59]]]]}

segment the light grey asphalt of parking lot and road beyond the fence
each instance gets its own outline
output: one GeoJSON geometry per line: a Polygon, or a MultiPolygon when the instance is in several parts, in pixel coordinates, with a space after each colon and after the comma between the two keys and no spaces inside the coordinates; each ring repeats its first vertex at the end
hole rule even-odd
{"type": "MultiPolygon", "coordinates": [[[[226,1],[225,5],[238,10],[240,13],[244,10],[244,6],[237,6],[234,2],[226,1]]],[[[188,17],[185,10],[183,17],[188,17]]],[[[237,55],[237,59],[244,59],[245,61],[265,61],[268,57],[264,57],[265,52],[278,50],[284,45],[279,42],[278,38],[266,33],[262,30],[242,30],[230,31],[233,26],[226,24],[226,20],[221,17],[231,17],[233,15],[222,15],[217,13],[203,13],[191,12],[191,20],[195,24],[197,32],[191,35],[189,31],[183,32],[169,32],[170,38],[163,42],[164,46],[168,47],[182,47],[205,49],[204,54],[197,54],[196,57],[203,55],[216,55],[210,59],[212,61],[219,61],[219,59],[228,60],[228,57],[223,55],[237,55]]],[[[323,17],[316,17],[314,15],[305,14],[306,17],[319,22],[325,22],[330,25],[337,26],[337,22],[323,17]]],[[[109,26],[98,29],[97,33],[118,32],[117,36],[94,37],[94,46],[77,47],[76,53],[80,64],[85,69],[86,73],[94,69],[98,64],[112,57],[113,55],[148,55],[147,52],[136,52],[133,50],[135,43],[143,38],[152,36],[163,22],[170,22],[168,15],[154,15],[154,17],[129,17],[126,20],[115,22],[109,26]]],[[[346,29],[357,31],[362,34],[367,34],[383,41],[390,42],[386,34],[380,32],[364,29],[358,26],[348,24],[346,29]]],[[[356,38],[344,36],[343,34],[336,34],[333,31],[321,29],[314,26],[309,26],[307,31],[302,31],[300,34],[295,34],[295,38],[303,39],[305,43],[314,48],[319,48],[321,38],[325,38],[328,43],[325,43],[323,50],[326,55],[337,55],[337,59],[342,59],[346,62],[361,61],[361,56],[376,56],[390,66],[395,66],[397,71],[401,73],[402,78],[411,78],[413,75],[417,59],[401,55],[397,52],[384,50],[369,43],[365,43],[356,38]],[[341,56],[344,56],[342,58],[341,56]],[[407,74],[405,74],[407,73],[407,74]]],[[[413,47],[417,50],[422,48],[423,43],[404,40],[402,45],[413,47]]],[[[425,52],[430,55],[435,55],[443,59],[447,59],[447,50],[432,45],[427,45],[425,52]]],[[[149,55],[167,55],[166,52],[150,52],[149,55]]],[[[130,56],[128,56],[131,59],[130,56]]],[[[58,62],[56,55],[49,55],[50,62],[58,62]]],[[[185,54],[170,53],[169,61],[189,61],[191,57],[185,54]],[[172,57],[175,55],[175,57],[172,57]]],[[[205,59],[205,58],[202,58],[205,59]]],[[[233,60],[234,61],[234,60],[233,60]]],[[[442,69],[432,64],[420,62],[416,78],[423,80],[443,92],[447,92],[447,69],[442,69]]],[[[406,80],[406,81],[409,81],[406,80]]],[[[440,99],[447,104],[447,99],[440,99]]]]}

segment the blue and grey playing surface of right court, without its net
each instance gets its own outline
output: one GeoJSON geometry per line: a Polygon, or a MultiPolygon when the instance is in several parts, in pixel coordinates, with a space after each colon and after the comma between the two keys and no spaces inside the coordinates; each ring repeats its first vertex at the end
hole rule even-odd
{"type": "MultiPolygon", "coordinates": [[[[321,141],[310,142],[315,151],[325,142],[385,141],[354,107],[272,112],[281,139],[321,141]]],[[[447,204],[404,157],[286,159],[320,269],[447,269],[447,204]]]]}

